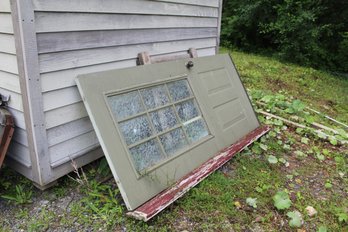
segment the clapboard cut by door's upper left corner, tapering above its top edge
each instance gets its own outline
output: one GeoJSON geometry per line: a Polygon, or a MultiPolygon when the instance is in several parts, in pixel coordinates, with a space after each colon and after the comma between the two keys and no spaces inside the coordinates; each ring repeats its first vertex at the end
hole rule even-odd
{"type": "Polygon", "coordinates": [[[127,68],[136,65],[136,59],[117,61],[106,64],[98,64],[93,66],[86,66],[81,68],[59,70],[56,72],[41,74],[42,91],[52,91],[56,89],[67,88],[75,86],[75,79],[77,75],[87,74],[91,72],[100,72],[111,69],[127,68]]]}

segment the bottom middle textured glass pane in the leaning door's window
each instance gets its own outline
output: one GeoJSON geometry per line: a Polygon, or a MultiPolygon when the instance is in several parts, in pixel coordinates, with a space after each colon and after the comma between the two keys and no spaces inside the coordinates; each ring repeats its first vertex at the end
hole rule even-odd
{"type": "Polygon", "coordinates": [[[181,128],[160,136],[160,140],[168,155],[173,155],[187,146],[185,135],[181,128]]]}

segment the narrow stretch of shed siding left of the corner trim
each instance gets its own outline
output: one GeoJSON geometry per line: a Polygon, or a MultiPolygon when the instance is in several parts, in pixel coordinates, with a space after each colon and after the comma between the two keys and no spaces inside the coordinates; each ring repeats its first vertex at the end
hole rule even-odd
{"type": "Polygon", "coordinates": [[[15,38],[9,0],[0,0],[0,94],[10,95],[8,110],[15,120],[15,132],[8,157],[25,168],[31,167],[23,101],[19,84],[15,38]]]}

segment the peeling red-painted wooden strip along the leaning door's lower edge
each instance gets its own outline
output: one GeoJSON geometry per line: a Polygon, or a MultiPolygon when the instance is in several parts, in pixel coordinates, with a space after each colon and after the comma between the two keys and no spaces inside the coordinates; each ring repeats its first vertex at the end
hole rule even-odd
{"type": "Polygon", "coordinates": [[[269,126],[258,127],[127,215],[145,222],[150,220],[269,130],[269,126]]]}

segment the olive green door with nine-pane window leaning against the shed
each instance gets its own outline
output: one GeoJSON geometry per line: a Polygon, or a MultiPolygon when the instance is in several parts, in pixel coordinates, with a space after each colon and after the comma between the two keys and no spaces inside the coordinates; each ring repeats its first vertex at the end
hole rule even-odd
{"type": "Polygon", "coordinates": [[[229,56],[187,61],[77,78],[130,210],[259,126],[229,56]]]}

